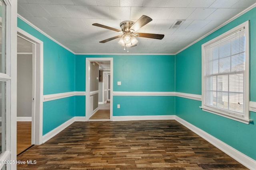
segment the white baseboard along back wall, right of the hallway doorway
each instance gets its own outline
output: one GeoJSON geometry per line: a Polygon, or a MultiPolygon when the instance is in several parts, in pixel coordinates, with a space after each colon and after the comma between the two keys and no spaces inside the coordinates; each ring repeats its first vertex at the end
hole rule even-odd
{"type": "Polygon", "coordinates": [[[113,116],[113,121],[136,121],[136,120],[175,120],[175,115],[113,116]]]}

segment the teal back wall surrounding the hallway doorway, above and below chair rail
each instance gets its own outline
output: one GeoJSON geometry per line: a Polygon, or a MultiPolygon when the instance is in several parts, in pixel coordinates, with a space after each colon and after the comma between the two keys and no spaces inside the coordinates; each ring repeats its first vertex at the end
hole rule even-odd
{"type": "MultiPolygon", "coordinates": [[[[113,58],[113,91],[174,92],[173,55],[76,55],[76,91],[85,91],[86,57],[113,58]]],[[[77,101],[76,110],[85,108],[84,98],[77,101]]],[[[113,96],[114,116],[174,114],[174,96],[113,96]]],[[[76,111],[76,116],[80,115],[84,116],[82,111],[76,111]]]]}

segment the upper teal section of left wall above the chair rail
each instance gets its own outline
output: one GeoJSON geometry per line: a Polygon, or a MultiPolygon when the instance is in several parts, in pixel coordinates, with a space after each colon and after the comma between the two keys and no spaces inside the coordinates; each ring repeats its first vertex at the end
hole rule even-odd
{"type": "Polygon", "coordinates": [[[44,43],[44,95],[75,90],[75,55],[18,18],[18,27],[44,43]]]}

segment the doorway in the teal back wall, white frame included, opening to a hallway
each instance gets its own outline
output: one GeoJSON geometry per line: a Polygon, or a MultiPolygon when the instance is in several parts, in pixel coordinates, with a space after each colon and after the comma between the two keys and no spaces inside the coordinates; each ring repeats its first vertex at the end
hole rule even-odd
{"type": "Polygon", "coordinates": [[[86,58],[86,121],[112,121],[113,110],[112,101],[113,98],[113,58],[86,58]],[[104,70],[102,66],[109,64],[109,69],[104,70]],[[98,65],[98,70],[95,70],[95,65],[98,65]],[[100,74],[100,72],[102,73],[100,74]],[[93,72],[97,75],[94,77],[93,72]],[[106,77],[107,74],[107,77],[106,77]],[[101,77],[102,76],[102,77],[101,77]],[[109,78],[110,77],[110,78],[109,78]],[[109,78],[109,80],[108,80],[109,78]],[[102,82],[101,82],[101,80],[102,82]],[[108,80],[108,81],[106,81],[108,80]],[[92,86],[98,86],[97,89],[92,86]],[[108,83],[110,86],[104,86],[104,83],[108,83]],[[100,86],[102,84],[102,86],[100,86]],[[110,87],[110,88],[109,88],[110,87]],[[109,91],[109,92],[108,92],[109,91]],[[109,93],[109,98],[105,100],[104,97],[109,93]],[[102,94],[102,96],[100,96],[102,94]],[[104,95],[105,94],[105,95],[104,95]],[[94,100],[96,96],[97,100],[94,100]],[[100,101],[100,99],[102,99],[100,101]],[[97,102],[97,104],[95,103],[97,102]],[[95,108],[95,105],[98,107],[95,108]],[[93,107],[93,108],[92,108],[93,107]],[[98,114],[101,113],[101,114],[98,114]],[[97,116],[99,115],[99,116],[97,116]],[[96,117],[95,117],[96,116],[96,117]],[[106,117],[108,116],[108,117],[106,117]]]}

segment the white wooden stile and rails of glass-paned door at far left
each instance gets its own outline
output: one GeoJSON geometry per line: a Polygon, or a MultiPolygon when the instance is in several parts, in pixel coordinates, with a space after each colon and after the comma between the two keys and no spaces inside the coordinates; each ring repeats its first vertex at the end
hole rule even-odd
{"type": "MultiPolygon", "coordinates": [[[[6,82],[6,150],[0,160],[16,160],[17,158],[17,0],[4,0],[6,3],[6,20],[2,24],[6,35],[6,74],[0,73],[1,81],[6,82]]],[[[1,18],[2,19],[2,18],[1,18]]],[[[0,164],[2,168],[4,164],[0,164]]],[[[6,164],[7,170],[16,169],[16,164],[6,164]]]]}

